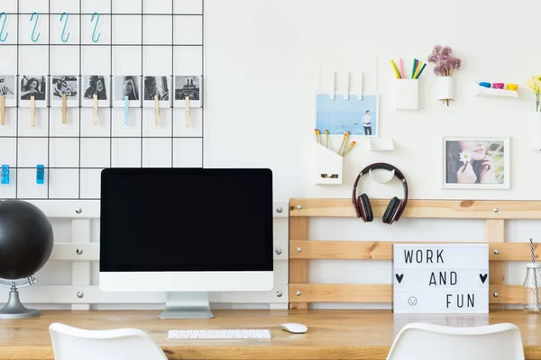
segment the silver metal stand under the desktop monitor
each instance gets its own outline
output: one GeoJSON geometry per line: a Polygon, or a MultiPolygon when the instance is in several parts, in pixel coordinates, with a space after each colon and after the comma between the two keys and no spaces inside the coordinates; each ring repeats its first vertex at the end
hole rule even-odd
{"type": "Polygon", "coordinates": [[[160,319],[212,319],[208,293],[167,293],[160,319]]]}

